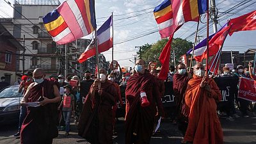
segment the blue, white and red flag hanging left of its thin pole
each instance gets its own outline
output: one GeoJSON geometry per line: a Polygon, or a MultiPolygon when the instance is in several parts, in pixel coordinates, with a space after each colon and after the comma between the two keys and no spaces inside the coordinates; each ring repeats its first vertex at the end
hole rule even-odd
{"type": "MultiPolygon", "coordinates": [[[[108,51],[111,47],[113,47],[112,24],[113,18],[110,16],[109,19],[97,30],[97,44],[99,53],[108,51]]],[[[86,61],[88,58],[91,58],[94,55],[96,55],[95,40],[92,40],[91,44],[88,45],[83,54],[81,54],[78,61],[79,63],[83,63],[83,61],[86,61]]]]}

